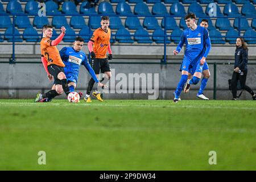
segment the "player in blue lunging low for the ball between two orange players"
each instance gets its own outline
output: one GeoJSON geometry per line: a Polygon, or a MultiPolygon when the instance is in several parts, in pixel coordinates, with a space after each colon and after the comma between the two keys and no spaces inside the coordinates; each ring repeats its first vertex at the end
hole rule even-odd
{"type": "MultiPolygon", "coordinates": [[[[80,65],[84,65],[84,67],[92,76],[93,80],[97,82],[98,86],[105,86],[104,84],[98,81],[95,72],[88,63],[85,53],[81,51],[82,46],[84,46],[84,39],[82,39],[81,37],[77,37],[75,39],[75,42],[73,43],[73,47],[64,47],[60,50],[61,60],[63,60],[63,63],[65,64],[64,73],[67,77],[70,92],[73,92],[76,88],[80,65]]],[[[55,84],[53,84],[52,89],[55,89],[55,84]]],[[[40,102],[49,101],[51,100],[49,100],[48,98],[44,98],[40,102]]]]}

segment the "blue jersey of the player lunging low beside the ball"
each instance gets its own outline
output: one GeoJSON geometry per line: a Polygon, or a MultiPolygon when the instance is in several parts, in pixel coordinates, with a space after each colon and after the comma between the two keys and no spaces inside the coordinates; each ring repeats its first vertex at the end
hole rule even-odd
{"type": "Polygon", "coordinates": [[[60,50],[60,57],[65,64],[64,73],[67,77],[71,75],[72,77],[75,77],[75,80],[77,82],[79,68],[82,64],[89,71],[94,81],[98,82],[98,78],[96,77],[92,67],[90,67],[90,64],[88,63],[87,57],[84,52],[76,51],[73,47],[63,47],[60,50]]]}

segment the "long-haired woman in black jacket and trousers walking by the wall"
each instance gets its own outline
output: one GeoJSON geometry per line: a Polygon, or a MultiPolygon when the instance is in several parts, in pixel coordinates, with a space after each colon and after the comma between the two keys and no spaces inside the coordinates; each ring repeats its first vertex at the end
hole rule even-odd
{"type": "Polygon", "coordinates": [[[256,100],[256,94],[251,90],[251,88],[245,85],[246,75],[247,75],[247,62],[248,62],[248,48],[245,44],[243,38],[237,38],[237,48],[235,52],[235,63],[234,72],[231,80],[231,88],[233,99],[237,100],[237,81],[240,80],[241,88],[246,90],[253,96],[253,100],[256,100]]]}

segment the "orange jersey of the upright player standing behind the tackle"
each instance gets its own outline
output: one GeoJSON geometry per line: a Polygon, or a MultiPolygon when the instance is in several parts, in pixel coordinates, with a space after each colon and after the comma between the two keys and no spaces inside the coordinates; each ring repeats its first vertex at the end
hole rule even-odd
{"type": "Polygon", "coordinates": [[[93,52],[96,55],[96,58],[106,58],[106,53],[109,47],[111,31],[108,28],[108,31],[105,32],[101,27],[93,32],[92,41],[93,44],[93,52]]]}

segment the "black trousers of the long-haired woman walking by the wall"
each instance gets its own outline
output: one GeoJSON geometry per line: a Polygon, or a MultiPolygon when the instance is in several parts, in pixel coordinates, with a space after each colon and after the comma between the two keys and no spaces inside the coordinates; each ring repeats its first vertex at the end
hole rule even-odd
{"type": "Polygon", "coordinates": [[[249,86],[245,85],[246,76],[247,76],[247,69],[245,71],[242,71],[241,73],[233,72],[232,80],[231,80],[233,98],[237,98],[237,81],[238,80],[240,80],[241,88],[243,90],[246,90],[247,92],[249,92],[251,96],[254,95],[253,90],[251,90],[249,86]]]}

